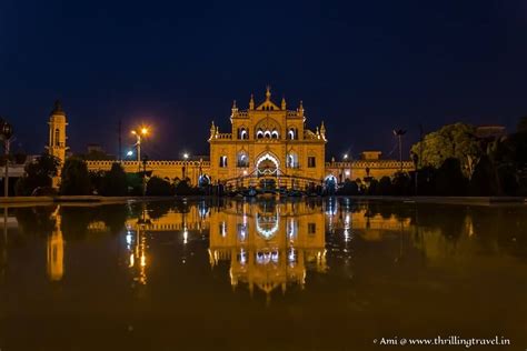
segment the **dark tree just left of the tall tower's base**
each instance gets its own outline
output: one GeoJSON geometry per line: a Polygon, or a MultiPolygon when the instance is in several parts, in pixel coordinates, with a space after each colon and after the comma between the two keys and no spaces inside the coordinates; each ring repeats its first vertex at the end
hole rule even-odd
{"type": "Polygon", "coordinates": [[[24,174],[17,181],[14,193],[28,197],[37,188],[51,188],[52,178],[58,174],[60,161],[56,157],[42,153],[24,167],[24,174]]]}

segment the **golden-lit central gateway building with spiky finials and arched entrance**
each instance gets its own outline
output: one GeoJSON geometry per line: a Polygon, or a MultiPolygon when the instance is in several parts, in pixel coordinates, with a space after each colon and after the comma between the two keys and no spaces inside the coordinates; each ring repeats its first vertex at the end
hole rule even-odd
{"type": "Polygon", "coordinates": [[[255,185],[261,179],[275,178],[280,185],[290,185],[295,179],[319,182],[325,177],[326,128],[310,130],[300,101],[288,110],[286,100],[280,106],[271,100],[267,88],[265,100],[240,110],[232,104],[231,129],[222,133],[210,128],[210,177],[219,181],[247,179],[255,185]]]}

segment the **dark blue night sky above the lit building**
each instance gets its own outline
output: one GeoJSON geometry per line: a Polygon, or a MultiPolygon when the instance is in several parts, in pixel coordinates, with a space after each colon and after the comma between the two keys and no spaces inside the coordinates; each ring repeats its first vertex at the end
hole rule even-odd
{"type": "Polygon", "coordinates": [[[208,153],[213,119],[227,131],[232,100],[304,100],[322,119],[328,158],[389,153],[454,122],[514,130],[527,114],[527,2],[34,1],[0,2],[0,116],[16,148],[39,152],[54,99],[69,144],[117,152],[117,124],[149,121],[151,158],[208,153]]]}

